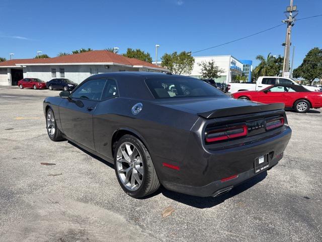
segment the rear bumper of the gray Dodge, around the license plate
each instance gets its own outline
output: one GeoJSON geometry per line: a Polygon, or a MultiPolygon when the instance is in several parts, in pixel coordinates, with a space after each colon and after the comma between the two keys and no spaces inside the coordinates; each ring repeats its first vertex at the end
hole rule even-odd
{"type": "Polygon", "coordinates": [[[165,161],[158,157],[157,162],[153,163],[165,188],[199,197],[216,196],[276,165],[283,157],[291,133],[287,126],[265,140],[217,151],[205,151],[198,147],[197,142],[194,143],[195,139],[190,139],[182,162],[165,161]],[[255,173],[255,159],[265,154],[269,154],[269,167],[255,173]],[[159,166],[159,162],[177,165],[180,170],[159,166]],[[237,177],[221,181],[233,175],[237,177]]]}

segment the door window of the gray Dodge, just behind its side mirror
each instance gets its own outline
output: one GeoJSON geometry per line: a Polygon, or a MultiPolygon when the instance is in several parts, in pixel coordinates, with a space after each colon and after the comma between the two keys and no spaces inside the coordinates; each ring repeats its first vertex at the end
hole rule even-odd
{"type": "Polygon", "coordinates": [[[105,83],[105,79],[87,81],[86,83],[82,84],[82,86],[79,86],[72,93],[71,97],[99,101],[101,100],[105,83]]]}

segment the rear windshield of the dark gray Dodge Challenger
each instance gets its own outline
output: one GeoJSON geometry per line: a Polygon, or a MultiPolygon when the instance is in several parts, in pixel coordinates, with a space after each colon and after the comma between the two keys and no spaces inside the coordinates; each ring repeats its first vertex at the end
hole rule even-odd
{"type": "Polygon", "coordinates": [[[206,97],[224,95],[200,79],[150,78],[145,80],[154,98],[206,97]]]}

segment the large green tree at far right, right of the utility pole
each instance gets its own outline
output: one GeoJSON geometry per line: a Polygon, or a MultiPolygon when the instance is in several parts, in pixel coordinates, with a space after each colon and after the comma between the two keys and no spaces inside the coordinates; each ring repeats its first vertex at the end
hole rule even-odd
{"type": "Polygon", "coordinates": [[[315,78],[322,77],[322,49],[314,47],[310,49],[302,64],[294,69],[293,77],[304,78],[312,85],[315,78]]]}

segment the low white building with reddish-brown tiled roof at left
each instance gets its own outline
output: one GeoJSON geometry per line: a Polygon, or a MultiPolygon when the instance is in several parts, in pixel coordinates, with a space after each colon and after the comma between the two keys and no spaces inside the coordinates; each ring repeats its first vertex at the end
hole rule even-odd
{"type": "Polygon", "coordinates": [[[17,85],[23,78],[67,78],[81,83],[91,75],[106,72],[164,72],[160,66],[107,50],[93,50],[52,58],[11,59],[0,62],[0,85],[17,85]]]}

